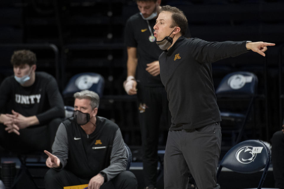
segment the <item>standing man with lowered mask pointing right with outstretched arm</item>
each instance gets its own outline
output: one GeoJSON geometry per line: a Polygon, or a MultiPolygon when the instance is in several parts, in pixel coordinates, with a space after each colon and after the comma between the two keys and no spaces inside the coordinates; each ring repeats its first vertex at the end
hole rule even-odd
{"type": "Polygon", "coordinates": [[[220,112],[214,94],[211,63],[252,50],[265,56],[273,43],[207,42],[184,38],[187,19],[176,7],[163,6],[154,36],[164,50],[160,75],[167,91],[172,125],[164,157],[165,189],[187,188],[188,174],[198,188],[220,188],[220,112]]]}

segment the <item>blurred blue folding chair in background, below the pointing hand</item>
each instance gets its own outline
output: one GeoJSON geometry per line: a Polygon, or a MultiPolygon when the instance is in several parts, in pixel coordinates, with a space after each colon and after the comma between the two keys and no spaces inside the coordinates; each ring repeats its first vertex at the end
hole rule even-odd
{"type": "Polygon", "coordinates": [[[230,147],[241,141],[257,85],[258,78],[254,73],[239,71],[227,74],[216,89],[222,133],[229,133],[230,147]]]}

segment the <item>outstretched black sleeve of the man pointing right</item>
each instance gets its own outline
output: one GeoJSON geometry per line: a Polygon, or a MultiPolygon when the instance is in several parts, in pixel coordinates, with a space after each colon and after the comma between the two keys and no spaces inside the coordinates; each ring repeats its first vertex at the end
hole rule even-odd
{"type": "Polygon", "coordinates": [[[197,38],[193,38],[188,50],[200,63],[215,62],[249,52],[246,50],[246,41],[207,42],[197,38]]]}

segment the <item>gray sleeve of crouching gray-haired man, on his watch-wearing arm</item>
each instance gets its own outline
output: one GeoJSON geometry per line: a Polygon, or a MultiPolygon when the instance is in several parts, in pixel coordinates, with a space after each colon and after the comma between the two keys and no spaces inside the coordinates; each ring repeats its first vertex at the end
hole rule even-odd
{"type": "Polygon", "coordinates": [[[107,181],[114,178],[120,172],[125,171],[127,167],[127,155],[124,146],[124,141],[120,129],[117,130],[112,146],[112,153],[110,156],[110,165],[106,167],[102,172],[106,173],[107,181]]]}

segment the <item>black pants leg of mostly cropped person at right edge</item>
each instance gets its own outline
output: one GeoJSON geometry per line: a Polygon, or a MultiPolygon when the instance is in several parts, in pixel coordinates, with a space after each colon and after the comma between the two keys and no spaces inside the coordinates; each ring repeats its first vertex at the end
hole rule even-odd
{"type": "Polygon", "coordinates": [[[275,188],[284,188],[284,134],[277,131],[272,136],[272,166],[275,188]]]}

